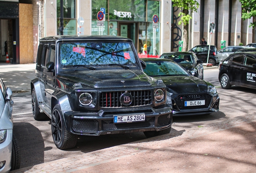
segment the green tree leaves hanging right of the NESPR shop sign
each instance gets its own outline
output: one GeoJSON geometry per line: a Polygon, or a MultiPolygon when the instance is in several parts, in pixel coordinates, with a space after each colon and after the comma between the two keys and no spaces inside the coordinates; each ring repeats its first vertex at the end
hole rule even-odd
{"type": "Polygon", "coordinates": [[[195,0],[172,0],[173,6],[180,8],[181,12],[178,16],[182,16],[178,24],[187,25],[189,20],[192,19],[188,12],[197,12],[199,3],[195,0]]]}

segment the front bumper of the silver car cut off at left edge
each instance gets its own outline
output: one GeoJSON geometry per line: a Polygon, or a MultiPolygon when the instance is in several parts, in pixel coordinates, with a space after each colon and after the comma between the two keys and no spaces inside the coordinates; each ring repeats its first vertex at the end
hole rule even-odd
{"type": "Polygon", "coordinates": [[[8,173],[11,169],[12,156],[12,129],[7,130],[7,137],[0,144],[0,162],[5,161],[4,166],[0,169],[0,173],[8,173]]]}

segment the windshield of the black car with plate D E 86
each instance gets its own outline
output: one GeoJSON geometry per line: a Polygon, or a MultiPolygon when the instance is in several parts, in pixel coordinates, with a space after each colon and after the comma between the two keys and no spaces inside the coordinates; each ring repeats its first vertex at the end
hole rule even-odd
{"type": "Polygon", "coordinates": [[[184,68],[171,61],[153,60],[147,61],[147,66],[143,70],[149,76],[187,76],[189,75],[184,68]]]}

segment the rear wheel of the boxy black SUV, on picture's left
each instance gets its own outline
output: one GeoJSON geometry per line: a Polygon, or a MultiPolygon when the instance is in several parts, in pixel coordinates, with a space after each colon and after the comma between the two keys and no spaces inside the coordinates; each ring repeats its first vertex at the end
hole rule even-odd
{"type": "Polygon", "coordinates": [[[40,109],[38,107],[37,97],[35,93],[35,88],[32,90],[32,113],[36,121],[47,119],[47,115],[45,113],[40,113],[40,109]]]}

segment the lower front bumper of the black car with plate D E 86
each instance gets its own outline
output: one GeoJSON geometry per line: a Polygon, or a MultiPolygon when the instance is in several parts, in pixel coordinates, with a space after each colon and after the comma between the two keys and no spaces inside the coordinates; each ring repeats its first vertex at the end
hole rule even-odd
{"type": "Polygon", "coordinates": [[[208,115],[213,112],[219,111],[219,95],[212,97],[211,103],[207,108],[200,109],[187,109],[187,110],[179,110],[175,109],[175,105],[173,106],[173,117],[178,116],[192,116],[192,115],[208,115]]]}

